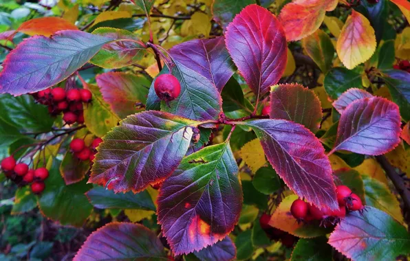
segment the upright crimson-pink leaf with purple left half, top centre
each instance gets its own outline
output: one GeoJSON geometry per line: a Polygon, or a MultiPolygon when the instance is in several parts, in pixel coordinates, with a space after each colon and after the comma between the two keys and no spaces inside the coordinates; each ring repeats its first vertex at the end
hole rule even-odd
{"type": "Polygon", "coordinates": [[[277,18],[259,5],[248,5],[226,28],[226,47],[257,98],[269,91],[288,60],[285,32],[277,18]]]}

